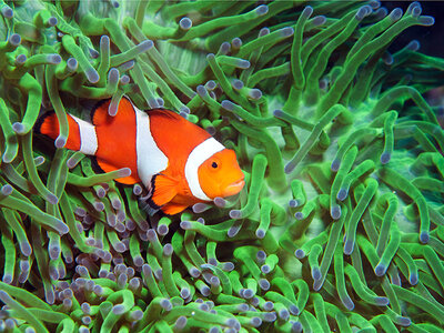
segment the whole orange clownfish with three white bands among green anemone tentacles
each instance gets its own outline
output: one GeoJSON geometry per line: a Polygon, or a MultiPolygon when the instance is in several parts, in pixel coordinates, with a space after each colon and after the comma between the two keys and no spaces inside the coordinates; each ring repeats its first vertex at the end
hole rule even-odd
{"type": "MultiPolygon", "coordinates": [[[[234,151],[180,114],[141,111],[122,98],[117,115],[110,115],[109,104],[105,100],[93,109],[92,123],[68,114],[64,147],[93,155],[103,172],[130,168],[129,176],[115,181],[142,182],[153,209],[173,215],[198,202],[238,194],[244,186],[234,151]]],[[[43,114],[36,131],[56,140],[56,113],[43,114]]]]}

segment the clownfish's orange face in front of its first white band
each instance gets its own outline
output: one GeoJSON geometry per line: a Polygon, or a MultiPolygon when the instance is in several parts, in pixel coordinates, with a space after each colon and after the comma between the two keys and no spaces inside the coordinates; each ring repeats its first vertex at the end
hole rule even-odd
{"type": "Polygon", "coordinates": [[[238,194],[245,184],[244,174],[231,149],[223,149],[206,159],[199,167],[198,174],[200,185],[210,199],[238,194]]]}

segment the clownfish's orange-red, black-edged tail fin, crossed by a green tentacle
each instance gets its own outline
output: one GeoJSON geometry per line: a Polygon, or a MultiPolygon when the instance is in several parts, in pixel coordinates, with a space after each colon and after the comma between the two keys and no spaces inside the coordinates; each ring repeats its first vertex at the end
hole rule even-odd
{"type": "Polygon", "coordinates": [[[47,135],[52,140],[56,140],[57,148],[64,147],[71,150],[80,150],[81,140],[80,140],[79,124],[70,114],[68,114],[67,117],[69,125],[69,134],[67,142],[64,142],[63,139],[59,141],[60,139],[59,120],[54,111],[47,112],[42,117],[40,117],[40,119],[37,121],[34,125],[34,131],[37,133],[47,135]]]}

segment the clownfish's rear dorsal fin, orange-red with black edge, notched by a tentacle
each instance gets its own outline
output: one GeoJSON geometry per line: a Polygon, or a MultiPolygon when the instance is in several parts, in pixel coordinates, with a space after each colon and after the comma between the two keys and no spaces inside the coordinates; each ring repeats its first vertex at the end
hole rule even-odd
{"type": "MultiPolygon", "coordinates": [[[[100,101],[91,112],[91,122],[100,127],[105,123],[110,123],[117,119],[119,122],[123,119],[132,119],[134,117],[134,108],[130,100],[123,97],[118,107],[118,113],[115,115],[110,115],[108,109],[110,107],[111,99],[100,101]]],[[[124,121],[123,121],[124,122],[124,121]]]]}

